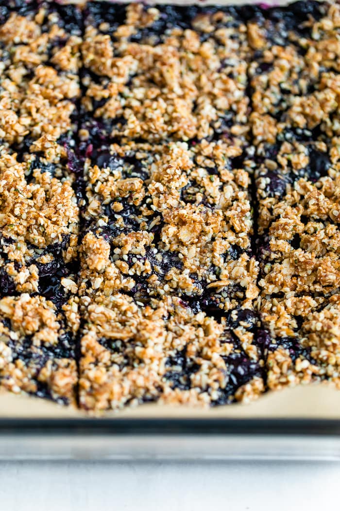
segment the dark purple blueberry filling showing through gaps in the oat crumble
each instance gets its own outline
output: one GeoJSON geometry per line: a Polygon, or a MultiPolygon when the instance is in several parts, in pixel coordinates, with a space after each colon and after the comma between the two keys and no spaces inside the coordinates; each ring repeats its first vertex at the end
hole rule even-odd
{"type": "MultiPolygon", "coordinates": [[[[32,10],[34,10],[32,3],[30,2],[24,2],[23,0],[10,0],[9,2],[2,2],[0,0],[0,22],[4,22],[6,20],[11,9],[16,9],[16,11],[21,15],[30,14],[32,10]]],[[[300,36],[309,37],[310,28],[306,21],[308,21],[310,17],[319,19],[322,15],[323,7],[319,6],[317,2],[297,2],[289,8],[268,9],[266,12],[263,8],[257,6],[240,8],[201,8],[198,6],[192,6],[188,8],[161,6],[159,9],[161,12],[159,19],[153,21],[150,27],[138,29],[136,34],[133,34],[129,37],[130,42],[147,42],[150,44],[162,43],[170,29],[174,27],[181,29],[191,29],[193,28],[192,21],[197,14],[212,14],[216,12],[217,9],[221,9],[223,12],[230,14],[230,22],[227,23],[227,26],[238,25],[240,23],[240,19],[242,19],[243,22],[247,20],[257,20],[260,24],[264,24],[266,38],[268,41],[284,45],[286,41],[290,40],[290,32],[292,30],[295,30],[296,33],[300,36]]],[[[119,25],[124,23],[126,16],[126,8],[124,5],[112,5],[111,3],[98,4],[96,2],[91,2],[86,6],[83,13],[79,9],[72,6],[54,5],[51,10],[58,12],[60,17],[58,24],[59,26],[65,28],[68,33],[74,35],[82,34],[84,31],[83,21],[85,21],[87,25],[94,25],[99,28],[99,31],[109,33],[113,40],[114,31],[118,28],[119,25]],[[106,23],[103,22],[104,20],[106,23]]],[[[225,25],[226,24],[224,22],[223,26],[225,25]]],[[[204,33],[204,30],[198,29],[198,31],[201,42],[215,37],[214,35],[204,33]]],[[[53,44],[58,45],[59,42],[54,41],[53,44]]],[[[259,51],[257,53],[259,60],[258,72],[261,74],[270,72],[272,69],[272,64],[268,64],[267,62],[260,62],[262,52],[259,51]]],[[[5,52],[2,56],[2,59],[8,60],[8,58],[9,56],[5,52]]],[[[229,66],[230,62],[222,62],[222,67],[227,65],[229,66]]],[[[83,78],[85,77],[85,73],[88,74],[95,83],[101,83],[98,77],[95,77],[95,74],[91,72],[81,71],[81,74],[84,75],[83,78]]],[[[230,78],[236,78],[234,75],[235,73],[230,73],[230,78]]],[[[297,84],[295,85],[298,87],[297,84]]],[[[279,87],[282,95],[292,94],[292,91],[287,84],[281,83],[279,87]]],[[[317,90],[317,88],[311,84],[309,85],[307,92],[310,94],[314,90],[317,90]]],[[[94,109],[102,106],[104,101],[106,100],[100,100],[98,102],[94,101],[94,109]]],[[[282,102],[279,99],[277,104],[272,106],[275,106],[275,119],[277,121],[284,122],[284,114],[281,114],[280,111],[282,106],[281,103],[282,102]]],[[[83,176],[83,165],[85,158],[90,158],[92,164],[98,165],[101,169],[109,168],[111,172],[121,172],[122,179],[138,177],[143,181],[146,181],[149,177],[149,172],[148,165],[145,165],[145,162],[138,160],[134,154],[126,155],[124,157],[119,157],[117,155],[111,154],[108,147],[104,146],[103,144],[103,142],[107,143],[108,139],[110,142],[115,142],[115,140],[110,138],[112,127],[116,126],[122,128],[126,123],[125,119],[118,116],[112,121],[98,121],[97,119],[91,119],[91,115],[87,114],[84,114],[84,116],[81,118],[79,115],[81,108],[78,108],[79,106],[80,105],[77,103],[76,113],[72,119],[78,128],[86,127],[89,129],[89,140],[87,142],[79,142],[77,140],[76,150],[73,150],[71,143],[73,138],[77,138],[77,135],[65,134],[59,140],[59,143],[64,145],[67,150],[67,166],[68,170],[74,175],[73,188],[76,192],[77,199],[79,199],[79,201],[85,201],[86,183],[83,176]],[[71,141],[68,140],[68,138],[70,138],[71,141]],[[101,147],[102,149],[100,150],[98,147],[101,147]]],[[[284,106],[282,108],[284,108],[284,106]]],[[[197,104],[194,103],[193,111],[196,110],[197,104]]],[[[233,112],[224,112],[223,116],[218,119],[218,121],[212,123],[214,127],[214,134],[211,136],[210,140],[218,140],[223,136],[229,137],[230,135],[228,133],[233,124],[233,112]]],[[[280,143],[308,143],[316,140],[316,138],[319,137],[320,132],[320,126],[318,126],[315,130],[290,127],[286,128],[282,133],[277,135],[277,141],[280,143]]],[[[232,140],[231,137],[229,140],[232,140]]],[[[197,143],[197,140],[193,140],[191,142],[195,144],[197,143]]],[[[20,144],[21,155],[23,152],[27,152],[31,145],[31,138],[29,136],[25,137],[23,143],[20,144]]],[[[263,144],[263,148],[264,152],[262,154],[260,154],[261,149],[259,149],[257,161],[263,162],[265,159],[277,159],[277,155],[280,149],[279,144],[263,144]]],[[[305,176],[312,182],[315,182],[320,179],[320,177],[327,175],[331,165],[328,154],[317,151],[314,148],[309,148],[308,152],[310,159],[308,168],[303,169],[301,172],[293,172],[293,170],[291,170],[286,175],[280,175],[279,173],[266,170],[266,174],[263,177],[267,178],[268,180],[266,189],[264,191],[264,193],[267,194],[267,197],[275,199],[282,198],[286,193],[287,185],[293,183],[299,176],[305,176]]],[[[244,168],[244,159],[244,154],[237,158],[228,159],[226,161],[225,168],[228,170],[244,168]]],[[[49,164],[48,162],[44,161],[42,157],[35,155],[35,157],[32,159],[30,171],[27,176],[28,182],[33,181],[32,173],[35,169],[40,169],[41,172],[49,172],[54,177],[60,177],[60,175],[58,175],[58,172],[60,172],[58,165],[49,164]]],[[[218,174],[217,168],[208,167],[206,171],[210,174],[210,176],[218,174]]],[[[198,193],[203,193],[202,189],[199,187],[199,184],[192,179],[190,183],[184,189],[182,189],[181,199],[187,204],[195,203],[196,195],[198,193]]],[[[205,197],[202,200],[202,204],[204,204],[206,207],[211,207],[209,200],[205,197]]],[[[102,229],[98,229],[98,236],[103,236],[104,239],[112,242],[113,238],[119,236],[122,233],[128,234],[132,231],[141,230],[141,222],[143,222],[143,229],[152,232],[154,234],[155,240],[159,241],[161,230],[164,226],[163,220],[161,219],[161,221],[154,223],[155,218],[158,216],[157,213],[150,213],[150,215],[145,215],[145,217],[141,219],[141,210],[144,206],[145,203],[140,206],[136,206],[133,203],[131,197],[117,198],[111,201],[104,208],[104,213],[109,217],[108,226],[102,229]],[[123,206],[122,211],[119,211],[118,213],[114,211],[113,207],[113,204],[117,202],[123,206]],[[117,216],[122,218],[123,225],[121,225],[117,220],[117,216]]],[[[307,218],[303,219],[301,217],[301,220],[304,223],[308,223],[307,218]]],[[[91,228],[91,224],[86,224],[85,220],[82,220],[82,222],[83,231],[84,229],[91,228]]],[[[264,253],[266,251],[269,252],[270,248],[268,238],[266,240],[263,238],[262,241],[263,243],[259,244],[258,253],[264,253]]],[[[55,244],[47,247],[43,254],[52,253],[54,256],[54,259],[49,263],[38,263],[35,261],[35,258],[32,258],[31,260],[31,264],[35,264],[38,268],[39,294],[54,301],[57,308],[61,308],[69,297],[69,294],[60,285],[61,278],[70,275],[74,276],[77,273],[77,270],[79,270],[78,262],[74,265],[65,265],[62,251],[67,249],[68,242],[69,238],[65,237],[61,244],[55,244]]],[[[3,245],[7,243],[11,243],[11,240],[2,240],[3,245]]],[[[294,238],[290,240],[290,243],[293,249],[298,249],[301,244],[300,236],[296,234],[294,238]]],[[[233,261],[237,261],[245,252],[249,254],[251,253],[251,251],[245,251],[241,249],[237,244],[233,244],[230,246],[229,250],[223,254],[223,259],[231,259],[233,261]]],[[[3,255],[3,253],[1,255],[3,255]]],[[[112,250],[111,257],[114,257],[114,250],[112,250]]],[[[126,262],[129,266],[129,269],[132,269],[136,263],[145,264],[146,262],[149,262],[151,272],[155,275],[158,275],[160,280],[164,278],[164,276],[171,270],[171,268],[177,268],[178,270],[182,270],[183,268],[183,264],[178,258],[177,253],[162,250],[155,252],[150,248],[146,249],[146,254],[144,256],[128,254],[126,262]],[[157,254],[161,255],[160,260],[158,257],[156,257],[157,254]]],[[[263,270],[263,266],[261,268],[263,270]]],[[[218,278],[220,268],[209,268],[207,271],[210,274],[213,273],[218,278]]],[[[134,273],[133,278],[136,281],[136,285],[132,290],[130,290],[128,294],[132,295],[136,301],[141,301],[142,303],[150,303],[151,291],[149,284],[146,282],[147,277],[145,275],[137,275],[134,273]]],[[[222,319],[225,319],[228,339],[230,337],[231,341],[234,343],[234,353],[230,354],[228,357],[225,357],[228,383],[224,390],[219,390],[219,398],[215,400],[214,404],[222,404],[232,401],[237,388],[247,383],[252,377],[258,376],[264,378],[263,369],[261,369],[257,362],[253,362],[247,357],[247,355],[238,344],[236,335],[233,333],[233,330],[238,328],[240,324],[248,332],[255,334],[255,343],[261,354],[265,352],[268,354],[268,352],[277,349],[278,346],[282,346],[284,349],[289,351],[293,361],[295,361],[298,356],[305,357],[312,361],[310,350],[302,348],[297,338],[281,338],[278,339],[277,343],[275,344],[266,331],[260,330],[257,332],[259,320],[255,312],[249,309],[242,309],[241,307],[238,307],[228,313],[225,312],[223,307],[225,296],[227,296],[228,299],[236,299],[238,303],[240,300],[245,298],[245,289],[240,285],[231,284],[230,286],[225,287],[223,291],[215,292],[214,290],[210,291],[207,289],[207,284],[209,282],[208,280],[199,280],[197,275],[193,273],[190,274],[190,278],[194,283],[195,293],[194,296],[186,296],[185,294],[181,294],[181,305],[184,307],[190,307],[194,314],[198,314],[199,312],[203,311],[206,314],[214,317],[217,321],[221,322],[222,319]]],[[[7,274],[5,269],[0,268],[0,297],[11,294],[16,294],[14,282],[7,274]]],[[[297,322],[296,330],[299,331],[302,327],[302,318],[298,316],[295,319],[297,322]]],[[[52,356],[56,358],[73,357],[74,352],[72,347],[72,339],[73,338],[71,334],[67,332],[60,336],[58,346],[50,348],[48,347],[48,349],[43,346],[41,349],[35,349],[35,347],[32,346],[31,339],[28,338],[23,341],[21,347],[19,345],[14,347],[13,343],[13,351],[15,353],[15,357],[22,358],[23,360],[27,361],[27,363],[34,360],[34,363],[41,368],[51,357],[51,353],[52,356]]],[[[117,356],[123,356],[121,368],[123,368],[124,364],[126,365],[129,363],[128,357],[123,353],[122,342],[110,341],[108,339],[101,339],[99,342],[102,345],[107,346],[114,354],[117,354],[117,356]]],[[[178,351],[175,355],[169,357],[166,366],[167,371],[165,379],[171,382],[171,386],[173,388],[179,388],[181,390],[188,390],[191,388],[191,377],[200,369],[200,366],[194,363],[190,357],[188,357],[186,349],[178,351]]],[[[49,390],[44,384],[38,383],[37,394],[39,396],[48,397],[49,390]]],[[[147,399],[152,400],[151,397],[147,399]]]]}

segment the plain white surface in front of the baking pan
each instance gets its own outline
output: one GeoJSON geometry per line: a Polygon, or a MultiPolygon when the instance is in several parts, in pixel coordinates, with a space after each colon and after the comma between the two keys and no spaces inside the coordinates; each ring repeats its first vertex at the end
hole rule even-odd
{"type": "Polygon", "coordinates": [[[0,509],[314,511],[339,480],[336,462],[2,462],[0,509]]]}

